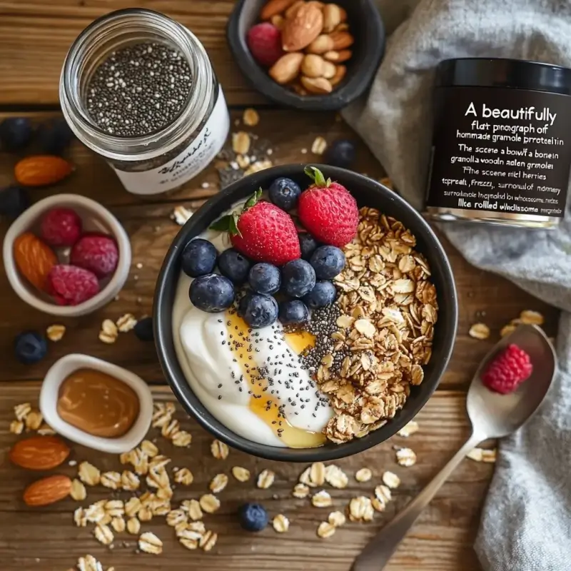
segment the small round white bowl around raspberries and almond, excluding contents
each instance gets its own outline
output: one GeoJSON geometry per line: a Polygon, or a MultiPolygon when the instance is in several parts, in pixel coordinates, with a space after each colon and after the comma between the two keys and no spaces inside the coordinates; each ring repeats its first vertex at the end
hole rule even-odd
{"type": "Polygon", "coordinates": [[[131,267],[131,243],[121,223],[105,208],[91,198],[79,194],[56,194],[30,206],[10,226],[4,238],[4,268],[6,276],[19,298],[32,307],[59,317],[87,315],[111,302],[121,291],[131,267]],[[86,232],[102,232],[115,238],[119,259],[115,273],[103,281],[101,291],[79,305],[57,305],[49,295],[34,288],[21,276],[14,261],[14,240],[24,232],[34,232],[39,227],[41,216],[51,208],[73,208],[84,223],[86,232]]]}

